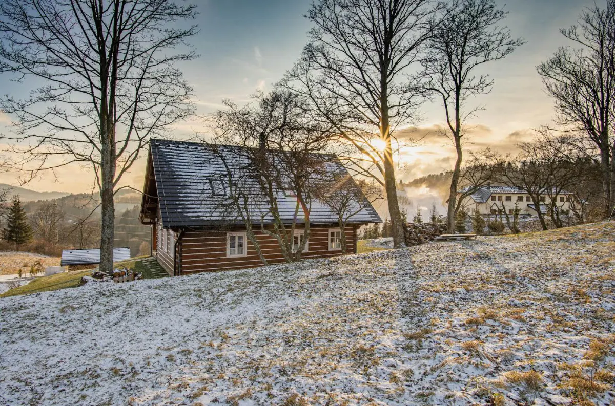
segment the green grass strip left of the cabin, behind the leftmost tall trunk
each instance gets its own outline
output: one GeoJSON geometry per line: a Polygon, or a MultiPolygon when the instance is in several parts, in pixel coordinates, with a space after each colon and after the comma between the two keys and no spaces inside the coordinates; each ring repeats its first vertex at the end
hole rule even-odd
{"type": "MultiPolygon", "coordinates": [[[[143,274],[143,279],[164,278],[169,276],[157,262],[156,259],[149,256],[134,257],[122,262],[116,262],[116,268],[128,268],[143,274]]],[[[92,275],[91,269],[85,271],[72,271],[68,273],[57,273],[51,276],[41,276],[30,283],[10,289],[4,292],[0,297],[9,297],[16,295],[29,295],[38,292],[56,291],[65,287],[77,287],[82,276],[92,275]]]]}

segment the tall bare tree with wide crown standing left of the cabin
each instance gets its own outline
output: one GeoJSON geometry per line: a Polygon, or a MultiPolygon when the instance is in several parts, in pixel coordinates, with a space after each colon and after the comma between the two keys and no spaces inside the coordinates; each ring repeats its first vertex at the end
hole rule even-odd
{"type": "Polygon", "coordinates": [[[194,6],[170,0],[4,0],[0,72],[42,83],[7,96],[17,158],[28,178],[78,164],[95,173],[102,227],[100,268],[113,268],[113,196],[151,135],[192,114],[191,87],[175,68],[194,53],[186,40],[194,6]],[[186,49],[184,52],[181,49],[186,49]]]}

